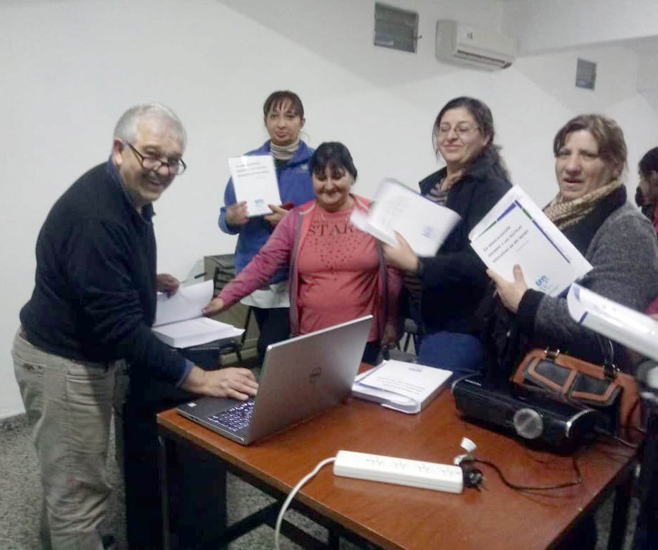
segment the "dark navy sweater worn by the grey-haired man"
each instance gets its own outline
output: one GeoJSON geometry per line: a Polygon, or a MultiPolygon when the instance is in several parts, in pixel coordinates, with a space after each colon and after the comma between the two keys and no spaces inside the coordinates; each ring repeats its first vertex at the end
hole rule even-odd
{"type": "Polygon", "coordinates": [[[127,360],[176,384],[185,359],[159,341],[156,247],[148,205],[140,215],[109,163],[99,164],[54,204],[37,239],[32,298],[20,311],[28,340],[73,360],[127,360]]]}

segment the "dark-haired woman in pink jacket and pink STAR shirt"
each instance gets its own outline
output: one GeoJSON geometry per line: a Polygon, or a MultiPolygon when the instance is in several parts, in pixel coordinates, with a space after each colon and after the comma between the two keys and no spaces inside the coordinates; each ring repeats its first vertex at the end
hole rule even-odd
{"type": "Polygon", "coordinates": [[[350,215],[370,200],[351,193],[357,176],[347,147],[325,142],[309,161],[315,200],[289,212],[251,262],[209,303],[214,314],[288,271],[292,334],[374,315],[363,359],[374,363],[381,346],[397,342],[401,276],[384,261],[377,241],[355,228],[350,215]]]}

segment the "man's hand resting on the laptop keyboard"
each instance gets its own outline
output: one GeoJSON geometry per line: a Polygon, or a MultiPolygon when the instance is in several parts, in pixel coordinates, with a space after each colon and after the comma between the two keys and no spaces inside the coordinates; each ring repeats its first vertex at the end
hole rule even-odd
{"type": "Polygon", "coordinates": [[[205,396],[248,399],[255,396],[258,383],[249,369],[229,367],[219,370],[203,370],[194,365],[188,377],[181,384],[192,393],[205,396]]]}

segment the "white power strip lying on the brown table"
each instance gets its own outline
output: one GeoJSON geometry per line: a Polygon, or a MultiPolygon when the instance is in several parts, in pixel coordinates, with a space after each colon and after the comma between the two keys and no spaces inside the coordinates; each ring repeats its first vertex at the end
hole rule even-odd
{"type": "Polygon", "coordinates": [[[353,451],[338,452],[334,475],[449,493],[461,493],[464,489],[463,470],[459,466],[353,451]]]}

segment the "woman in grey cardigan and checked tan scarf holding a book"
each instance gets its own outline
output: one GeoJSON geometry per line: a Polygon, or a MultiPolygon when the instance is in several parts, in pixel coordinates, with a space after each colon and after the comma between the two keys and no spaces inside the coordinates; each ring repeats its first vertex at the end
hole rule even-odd
{"type": "MultiPolygon", "coordinates": [[[[579,283],[644,312],[658,295],[658,245],[650,222],[626,200],[621,128],[606,116],[577,116],[558,131],[553,152],[559,192],[544,214],[592,264],[579,283]]],[[[500,298],[485,334],[492,371],[508,377],[530,348],[547,346],[630,370],[623,346],[615,343],[609,357],[603,338],[571,318],[566,292],[552,297],[529,289],[518,266],[513,281],[487,273],[500,298]]]]}

